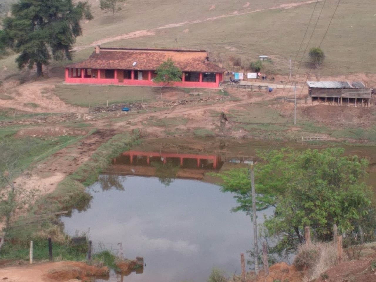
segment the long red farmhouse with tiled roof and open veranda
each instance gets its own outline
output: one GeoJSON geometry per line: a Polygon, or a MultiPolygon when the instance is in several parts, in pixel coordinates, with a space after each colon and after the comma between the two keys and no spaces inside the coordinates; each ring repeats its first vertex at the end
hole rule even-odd
{"type": "Polygon", "coordinates": [[[224,69],[205,50],[100,48],[89,59],[65,67],[66,83],[156,86],[155,70],[171,58],[183,72],[174,86],[217,88],[224,69]]]}

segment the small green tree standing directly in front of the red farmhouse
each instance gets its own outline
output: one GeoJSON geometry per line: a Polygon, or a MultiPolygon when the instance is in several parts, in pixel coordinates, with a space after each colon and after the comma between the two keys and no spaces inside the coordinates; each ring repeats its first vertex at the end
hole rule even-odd
{"type": "Polygon", "coordinates": [[[161,86],[161,96],[162,88],[167,85],[173,85],[174,82],[182,81],[182,71],[174,64],[171,58],[163,62],[155,71],[157,74],[153,81],[155,83],[163,83],[161,86]]]}

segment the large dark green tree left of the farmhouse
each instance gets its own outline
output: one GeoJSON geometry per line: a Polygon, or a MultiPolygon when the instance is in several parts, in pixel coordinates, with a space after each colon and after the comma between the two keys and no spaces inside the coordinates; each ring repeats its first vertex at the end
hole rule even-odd
{"type": "Polygon", "coordinates": [[[12,5],[12,16],[3,20],[2,44],[20,53],[18,67],[36,65],[38,76],[50,60],[71,59],[76,37],[82,34],[80,21],[92,19],[87,2],[72,0],[20,0],[12,5]]]}

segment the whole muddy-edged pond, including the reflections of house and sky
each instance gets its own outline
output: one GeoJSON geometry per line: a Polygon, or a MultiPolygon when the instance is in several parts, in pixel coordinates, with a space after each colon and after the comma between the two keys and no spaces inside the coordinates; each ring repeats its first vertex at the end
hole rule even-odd
{"type": "MultiPolygon", "coordinates": [[[[376,187],[375,151],[350,147],[346,153],[371,160],[367,182],[376,187]]],[[[213,267],[228,276],[240,274],[240,253],[253,247],[253,224],[243,212],[230,212],[237,205],[233,195],[211,184],[216,180],[207,172],[244,167],[252,158],[245,155],[254,152],[235,158],[155,149],[124,152],[108,174],[88,187],[90,207],[62,218],[65,231],[72,236],[89,231],[94,251],[143,257],[143,273],[132,272],[125,281],[205,281],[213,267]]],[[[259,213],[258,223],[262,218],[259,213]]]]}

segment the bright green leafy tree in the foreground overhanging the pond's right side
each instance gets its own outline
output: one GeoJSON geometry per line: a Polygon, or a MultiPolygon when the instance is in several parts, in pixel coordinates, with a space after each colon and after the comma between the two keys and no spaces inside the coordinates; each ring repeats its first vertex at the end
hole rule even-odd
{"type": "MultiPolygon", "coordinates": [[[[304,226],[311,226],[319,241],[332,239],[332,224],[341,232],[353,232],[372,210],[372,190],[365,185],[368,161],[343,156],[344,149],[273,150],[259,153],[255,165],[255,188],[259,211],[274,207],[265,218],[268,236],[278,241],[276,253],[293,253],[304,242],[304,226]]],[[[219,174],[222,191],[232,192],[239,205],[233,211],[252,214],[250,180],[246,169],[219,174]]],[[[368,222],[368,223],[367,223],[368,222]]],[[[374,232],[374,230],[373,230],[374,232]]]]}

